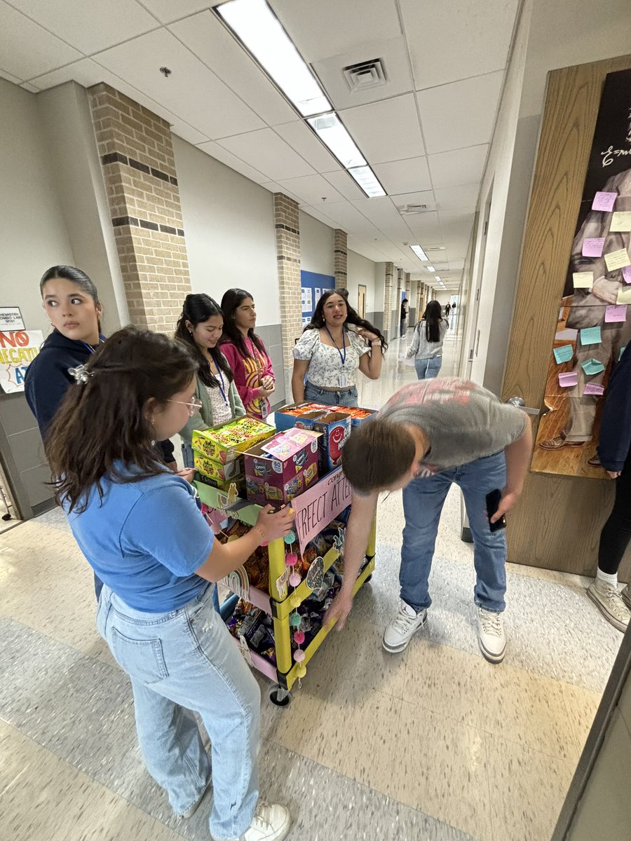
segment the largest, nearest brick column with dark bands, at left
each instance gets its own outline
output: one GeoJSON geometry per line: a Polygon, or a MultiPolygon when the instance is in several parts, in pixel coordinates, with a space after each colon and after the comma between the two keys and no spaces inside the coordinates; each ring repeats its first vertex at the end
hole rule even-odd
{"type": "Polygon", "coordinates": [[[172,333],[191,284],[171,129],[109,85],[89,95],[131,320],[172,333]]]}

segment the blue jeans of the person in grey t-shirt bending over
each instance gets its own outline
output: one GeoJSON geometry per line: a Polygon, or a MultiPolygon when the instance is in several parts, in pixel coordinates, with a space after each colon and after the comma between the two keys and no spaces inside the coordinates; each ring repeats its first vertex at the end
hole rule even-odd
{"type": "Polygon", "coordinates": [[[400,595],[417,612],[432,604],[428,579],[443,503],[451,484],[459,485],[469,515],[474,540],[474,601],[487,611],[501,613],[506,607],[506,536],[503,529],[491,532],[486,517],[486,495],[506,485],[504,452],[475,462],[414,479],[403,489],[403,530],[400,595]]]}

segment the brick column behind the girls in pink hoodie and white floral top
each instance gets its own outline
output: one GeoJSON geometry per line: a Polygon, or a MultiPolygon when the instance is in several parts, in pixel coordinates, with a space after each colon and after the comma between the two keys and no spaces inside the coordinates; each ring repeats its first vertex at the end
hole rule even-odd
{"type": "Polygon", "coordinates": [[[291,372],[294,368],[295,340],[302,335],[300,295],[300,223],[298,202],[284,193],[274,193],[274,226],[278,261],[278,296],[280,322],[283,329],[285,393],[291,394],[291,372]]]}

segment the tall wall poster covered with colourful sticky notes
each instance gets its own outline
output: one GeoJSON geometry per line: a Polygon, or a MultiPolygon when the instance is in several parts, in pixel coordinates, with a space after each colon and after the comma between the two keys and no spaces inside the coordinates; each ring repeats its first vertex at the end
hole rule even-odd
{"type": "Polygon", "coordinates": [[[612,368],[631,338],[631,70],[602,90],[568,263],[545,404],[533,452],[538,473],[605,475],[597,457],[612,368]]]}

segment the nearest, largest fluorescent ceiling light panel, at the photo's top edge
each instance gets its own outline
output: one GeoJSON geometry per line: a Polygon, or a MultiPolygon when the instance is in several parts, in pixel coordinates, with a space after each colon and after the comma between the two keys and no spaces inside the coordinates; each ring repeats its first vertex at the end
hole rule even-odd
{"type": "Polygon", "coordinates": [[[331,103],[265,0],[229,0],[215,12],[252,53],[303,117],[331,111],[331,103]]]}

